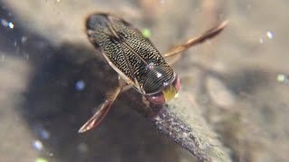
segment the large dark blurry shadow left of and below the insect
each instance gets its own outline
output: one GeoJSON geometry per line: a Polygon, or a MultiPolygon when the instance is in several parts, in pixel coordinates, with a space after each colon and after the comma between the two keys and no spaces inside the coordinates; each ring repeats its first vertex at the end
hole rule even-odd
{"type": "Polygon", "coordinates": [[[101,57],[94,57],[95,51],[81,45],[64,43],[60,48],[43,51],[51,57],[35,67],[22,111],[47,148],[44,156],[51,158],[52,154],[52,158],[70,161],[178,161],[178,146],[159,136],[151,122],[132,111],[143,109],[141,95],[134,90],[117,99],[98,129],[77,133],[92,108],[96,111],[107,91],[117,85],[116,72],[101,57]]]}

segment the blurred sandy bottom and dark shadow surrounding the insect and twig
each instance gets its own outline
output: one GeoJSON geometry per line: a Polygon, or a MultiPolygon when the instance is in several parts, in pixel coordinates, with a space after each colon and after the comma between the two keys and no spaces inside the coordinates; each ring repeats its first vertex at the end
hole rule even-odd
{"type": "MultiPolygon", "coordinates": [[[[288,1],[0,1],[1,161],[196,161],[121,95],[96,130],[79,127],[117,86],[85,18],[123,17],[162,53],[228,20],[173,65],[233,161],[289,159],[288,1]]],[[[141,96],[140,96],[141,97],[141,96]]],[[[190,104],[190,102],[188,101],[190,104]]],[[[188,103],[180,103],[188,104],[188,103]]]]}

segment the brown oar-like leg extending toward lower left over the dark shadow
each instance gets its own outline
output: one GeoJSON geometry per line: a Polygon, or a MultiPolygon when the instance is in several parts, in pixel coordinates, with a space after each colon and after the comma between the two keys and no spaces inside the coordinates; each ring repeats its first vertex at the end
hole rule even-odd
{"type": "Polygon", "coordinates": [[[98,124],[106,117],[107,112],[109,112],[112,103],[114,103],[117,99],[118,94],[120,94],[124,87],[126,87],[126,83],[119,79],[119,85],[112,91],[111,94],[107,96],[107,99],[104,103],[101,104],[98,112],[95,112],[94,115],[87,121],[82,127],[79,129],[79,133],[85,132],[87,130],[91,130],[94,127],[97,127],[98,124]]]}

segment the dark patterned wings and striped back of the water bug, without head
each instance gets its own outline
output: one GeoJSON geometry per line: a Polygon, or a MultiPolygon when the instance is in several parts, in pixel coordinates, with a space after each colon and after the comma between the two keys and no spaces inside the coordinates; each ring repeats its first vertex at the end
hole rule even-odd
{"type": "Polygon", "coordinates": [[[87,29],[89,40],[110,66],[142,94],[154,92],[163,82],[172,80],[172,68],[152,42],[126,21],[112,15],[92,14],[87,20],[87,29]],[[162,78],[157,77],[160,74],[162,78]],[[146,83],[148,76],[156,79],[146,83]]]}

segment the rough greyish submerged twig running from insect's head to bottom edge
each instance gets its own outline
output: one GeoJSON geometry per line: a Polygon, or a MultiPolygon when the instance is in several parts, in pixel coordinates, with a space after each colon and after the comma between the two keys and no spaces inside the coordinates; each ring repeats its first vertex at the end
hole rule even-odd
{"type": "Polygon", "coordinates": [[[231,161],[217,135],[200,114],[190,94],[181,93],[150,118],[155,127],[200,161],[231,161]],[[188,101],[188,98],[191,100],[188,101]]]}

